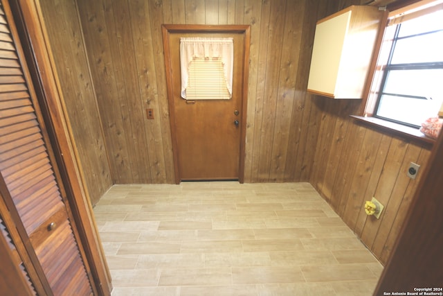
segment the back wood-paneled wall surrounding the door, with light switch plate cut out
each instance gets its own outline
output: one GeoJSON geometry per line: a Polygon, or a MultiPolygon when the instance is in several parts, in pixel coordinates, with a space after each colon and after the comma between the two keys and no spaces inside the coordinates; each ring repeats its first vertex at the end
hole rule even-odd
{"type": "Polygon", "coordinates": [[[330,1],[77,2],[114,182],[174,182],[161,24],[251,25],[245,182],[309,180],[320,117],[305,89],[330,1]]]}

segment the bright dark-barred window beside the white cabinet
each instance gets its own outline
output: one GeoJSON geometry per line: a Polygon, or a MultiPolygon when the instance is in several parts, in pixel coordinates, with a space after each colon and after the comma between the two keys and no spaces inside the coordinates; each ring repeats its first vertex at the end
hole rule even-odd
{"type": "Polygon", "coordinates": [[[437,116],[443,103],[443,10],[419,15],[386,28],[374,110],[374,117],[414,128],[437,116]]]}

